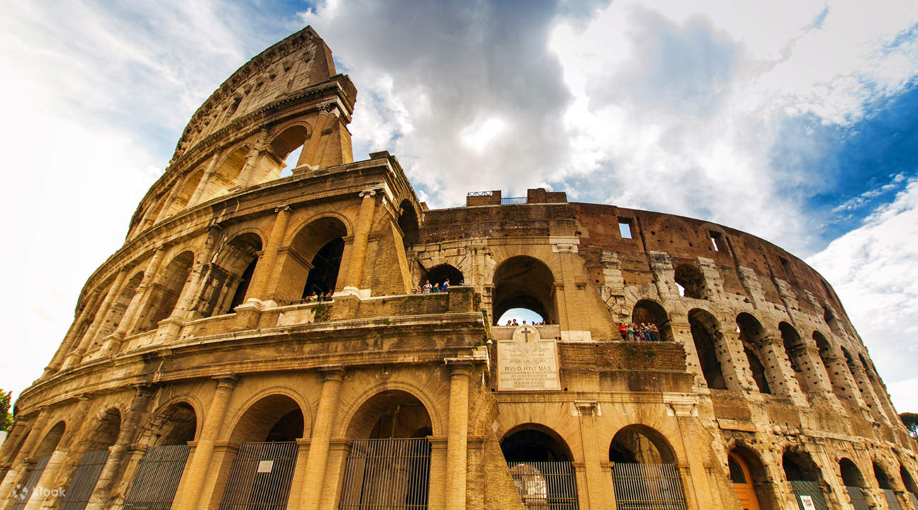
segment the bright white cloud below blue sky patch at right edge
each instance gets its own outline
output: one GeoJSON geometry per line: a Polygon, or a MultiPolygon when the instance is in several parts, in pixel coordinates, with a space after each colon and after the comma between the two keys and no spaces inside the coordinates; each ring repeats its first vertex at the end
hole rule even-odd
{"type": "Polygon", "coordinates": [[[809,263],[832,283],[900,412],[918,410],[918,179],[809,263]]]}

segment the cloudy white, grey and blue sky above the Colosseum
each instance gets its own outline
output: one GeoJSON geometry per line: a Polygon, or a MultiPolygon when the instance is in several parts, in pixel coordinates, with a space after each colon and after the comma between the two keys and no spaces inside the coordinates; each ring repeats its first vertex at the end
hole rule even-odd
{"type": "Polygon", "coordinates": [[[311,25],[358,89],[354,159],[431,207],[527,188],[700,217],[834,286],[918,412],[918,3],[0,0],[0,388],[40,375],[185,124],[311,25]]]}

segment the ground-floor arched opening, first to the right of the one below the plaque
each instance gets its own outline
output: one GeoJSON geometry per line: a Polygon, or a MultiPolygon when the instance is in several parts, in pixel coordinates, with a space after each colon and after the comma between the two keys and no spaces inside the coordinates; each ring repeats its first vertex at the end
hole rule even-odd
{"type": "Polygon", "coordinates": [[[676,454],[655,429],[630,425],[619,430],[609,460],[619,508],[686,508],[676,454]]]}

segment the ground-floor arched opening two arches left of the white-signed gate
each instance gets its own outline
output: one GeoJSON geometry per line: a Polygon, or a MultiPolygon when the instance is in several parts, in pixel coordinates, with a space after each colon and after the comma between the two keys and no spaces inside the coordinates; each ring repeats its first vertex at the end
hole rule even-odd
{"type": "Polygon", "coordinates": [[[95,429],[86,443],[84,454],[73,471],[67,491],[64,493],[62,510],[82,510],[89,504],[99,475],[108,460],[109,448],[118,440],[121,430],[121,413],[117,408],[106,409],[95,424],[95,429]]]}

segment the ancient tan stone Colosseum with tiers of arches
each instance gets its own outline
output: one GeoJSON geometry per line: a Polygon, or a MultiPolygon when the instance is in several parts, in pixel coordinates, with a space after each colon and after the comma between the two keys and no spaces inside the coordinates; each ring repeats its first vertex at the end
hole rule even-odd
{"type": "Polygon", "coordinates": [[[305,28],[196,111],[17,402],[4,509],[918,506],[803,261],[544,189],[429,209],[353,161],[356,94],[305,28]]]}

